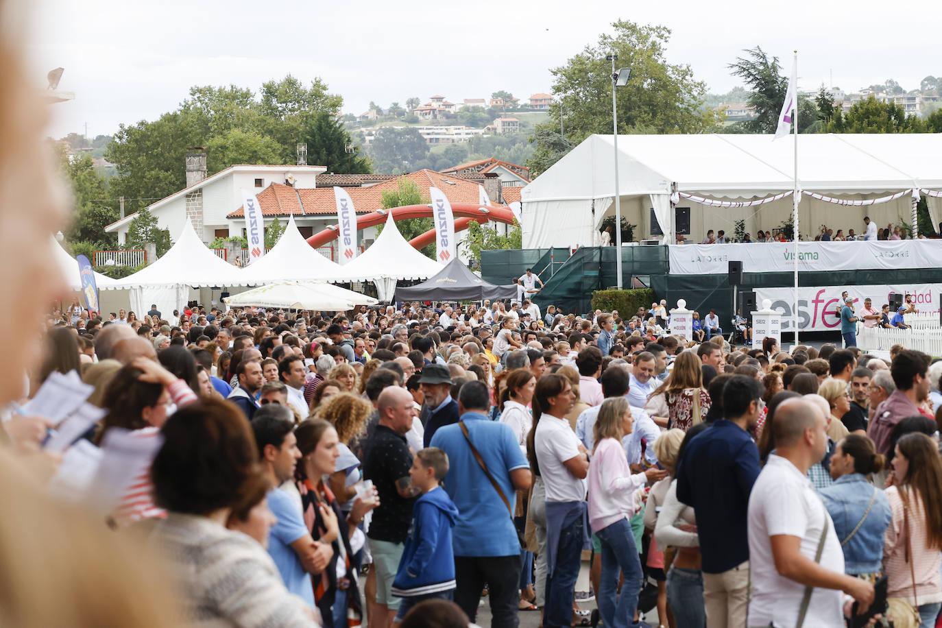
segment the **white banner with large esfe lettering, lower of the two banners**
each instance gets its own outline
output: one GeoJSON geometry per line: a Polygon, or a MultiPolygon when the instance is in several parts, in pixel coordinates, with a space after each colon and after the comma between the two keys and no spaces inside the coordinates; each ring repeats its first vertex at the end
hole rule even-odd
{"type": "MultiPolygon", "coordinates": [[[[722,246],[722,245],[721,245],[722,246]]],[[[872,299],[873,309],[889,301],[889,294],[912,295],[918,312],[938,314],[939,295],[942,283],[898,283],[894,285],[828,285],[798,288],[798,330],[840,330],[840,315],[837,308],[843,305],[840,293],[847,291],[853,298],[853,310],[864,309],[864,299],[872,299]]],[[[771,309],[782,315],[782,331],[792,330],[792,311],[795,306],[794,288],[755,288],[755,303],[771,300],[771,309]]],[[[893,312],[890,312],[892,316],[893,312]]]]}

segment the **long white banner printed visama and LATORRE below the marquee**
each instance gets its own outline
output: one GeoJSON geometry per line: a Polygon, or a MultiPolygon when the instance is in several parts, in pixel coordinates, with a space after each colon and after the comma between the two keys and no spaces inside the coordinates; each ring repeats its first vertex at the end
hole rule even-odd
{"type": "MultiPolygon", "coordinates": [[[[672,245],[669,256],[674,275],[725,275],[730,261],[742,262],[742,272],[790,272],[795,244],[672,245]]],[[[800,272],[933,267],[942,267],[942,246],[937,240],[801,242],[798,248],[800,272]]]]}

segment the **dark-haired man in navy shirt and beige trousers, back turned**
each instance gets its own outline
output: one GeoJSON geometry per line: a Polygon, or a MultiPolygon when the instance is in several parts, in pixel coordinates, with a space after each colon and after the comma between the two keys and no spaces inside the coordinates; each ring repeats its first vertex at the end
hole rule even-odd
{"type": "Polygon", "coordinates": [[[749,433],[761,382],[737,375],[723,386],[723,419],[693,438],[677,468],[677,499],[697,513],[708,626],[744,626],[749,606],[749,493],[759,452],[749,433]]]}

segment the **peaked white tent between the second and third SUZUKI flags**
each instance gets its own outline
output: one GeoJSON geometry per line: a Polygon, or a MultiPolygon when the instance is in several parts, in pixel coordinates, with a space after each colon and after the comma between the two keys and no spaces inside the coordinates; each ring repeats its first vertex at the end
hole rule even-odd
{"type": "Polygon", "coordinates": [[[390,213],[373,245],[340,266],[333,282],[373,282],[380,300],[388,301],[393,298],[397,280],[428,279],[441,269],[442,265],[406,242],[390,213]]]}

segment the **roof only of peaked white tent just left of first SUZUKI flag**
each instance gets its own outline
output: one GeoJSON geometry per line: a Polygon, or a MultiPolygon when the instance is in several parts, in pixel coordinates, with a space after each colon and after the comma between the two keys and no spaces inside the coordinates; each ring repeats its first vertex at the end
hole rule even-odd
{"type": "Polygon", "coordinates": [[[163,257],[133,275],[107,286],[106,290],[158,286],[199,288],[247,285],[241,272],[240,268],[223,261],[206,248],[187,220],[180,238],[163,257]]]}

